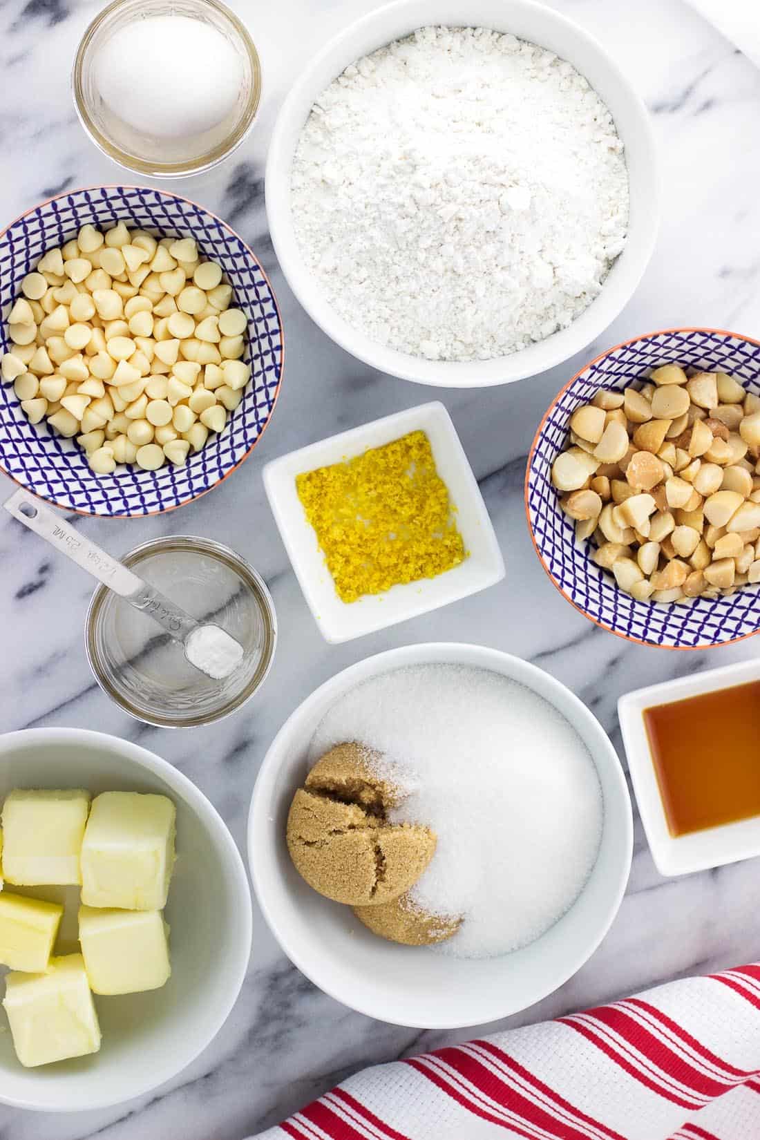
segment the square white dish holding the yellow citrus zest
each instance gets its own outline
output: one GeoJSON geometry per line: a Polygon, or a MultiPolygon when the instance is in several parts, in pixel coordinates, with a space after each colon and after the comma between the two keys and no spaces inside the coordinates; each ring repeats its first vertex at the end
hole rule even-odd
{"type": "Polygon", "coordinates": [[[451,417],[436,400],[291,451],[268,463],[263,479],[303,596],[322,636],[333,644],[427,613],[504,578],[504,559],[483,496],[451,417]],[[438,473],[449,489],[457,527],[469,556],[436,578],[393,586],[384,594],[366,594],[356,602],[342,602],[299,499],[295,477],[354,458],[368,448],[382,447],[412,431],[424,431],[430,439],[438,473]]]}

